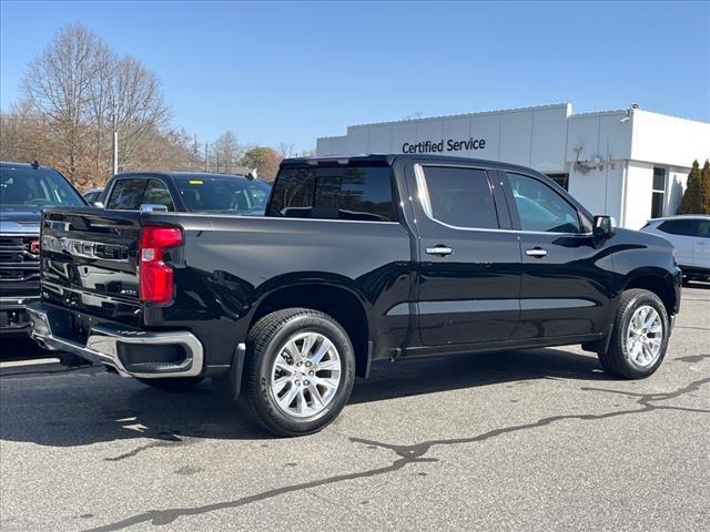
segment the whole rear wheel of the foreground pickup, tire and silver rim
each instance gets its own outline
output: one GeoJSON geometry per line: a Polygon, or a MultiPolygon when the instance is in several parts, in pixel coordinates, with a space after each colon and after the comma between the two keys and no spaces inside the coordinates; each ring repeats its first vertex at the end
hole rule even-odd
{"type": "Polygon", "coordinates": [[[278,436],[317,432],[351,395],[353,346],[326,314],[277,310],[250,331],[243,379],[240,403],[258,424],[278,436]]]}

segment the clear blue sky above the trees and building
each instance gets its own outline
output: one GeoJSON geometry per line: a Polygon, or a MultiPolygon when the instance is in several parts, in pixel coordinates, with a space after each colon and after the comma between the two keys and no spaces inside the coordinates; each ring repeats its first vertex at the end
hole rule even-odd
{"type": "Polygon", "coordinates": [[[161,80],[204,141],[315,146],[347,125],[570,102],[710,121],[710,3],[10,2],[0,106],[81,21],[161,80]]]}

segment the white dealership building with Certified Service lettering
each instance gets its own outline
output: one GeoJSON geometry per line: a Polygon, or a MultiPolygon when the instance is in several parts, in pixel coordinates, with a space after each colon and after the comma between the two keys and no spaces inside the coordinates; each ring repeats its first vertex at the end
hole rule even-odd
{"type": "Polygon", "coordinates": [[[552,177],[619,225],[676,214],[690,166],[710,158],[710,124],[628,110],[572,113],[569,103],[351,125],[317,155],[426,153],[505,161],[552,177]]]}

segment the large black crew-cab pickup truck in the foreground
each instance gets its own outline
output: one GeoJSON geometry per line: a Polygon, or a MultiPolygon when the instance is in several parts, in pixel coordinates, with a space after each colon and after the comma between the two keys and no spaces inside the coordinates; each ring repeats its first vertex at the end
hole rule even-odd
{"type": "Polygon", "coordinates": [[[648,377],[681,286],[667,241],[545,175],[424,155],[286,160],[264,217],[48,209],[41,275],[43,346],[156,387],[212,377],[284,436],[376,359],[581,344],[648,377]]]}

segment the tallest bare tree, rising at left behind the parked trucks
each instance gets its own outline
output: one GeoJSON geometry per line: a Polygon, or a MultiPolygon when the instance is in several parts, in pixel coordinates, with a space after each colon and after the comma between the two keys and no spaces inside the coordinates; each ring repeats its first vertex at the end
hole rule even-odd
{"type": "Polygon", "coordinates": [[[171,133],[155,74],[133,58],[119,58],[81,24],[59,30],[30,63],[22,90],[33,120],[41,117],[42,131],[55,141],[53,164],[79,186],[111,173],[114,114],[121,168],[154,165],[161,156],[149,141],[171,133]]]}

